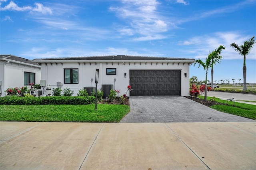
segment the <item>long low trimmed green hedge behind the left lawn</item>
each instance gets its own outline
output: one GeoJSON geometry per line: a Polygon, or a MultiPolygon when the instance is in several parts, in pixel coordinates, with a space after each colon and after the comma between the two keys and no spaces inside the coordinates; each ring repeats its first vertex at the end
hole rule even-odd
{"type": "Polygon", "coordinates": [[[0,97],[0,105],[90,105],[94,96],[0,97]]]}

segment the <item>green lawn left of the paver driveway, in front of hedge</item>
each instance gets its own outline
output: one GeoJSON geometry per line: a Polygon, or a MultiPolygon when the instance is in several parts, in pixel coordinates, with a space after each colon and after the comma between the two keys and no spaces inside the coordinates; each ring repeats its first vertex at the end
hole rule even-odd
{"type": "Polygon", "coordinates": [[[127,105],[0,105],[0,121],[119,122],[127,105]]]}

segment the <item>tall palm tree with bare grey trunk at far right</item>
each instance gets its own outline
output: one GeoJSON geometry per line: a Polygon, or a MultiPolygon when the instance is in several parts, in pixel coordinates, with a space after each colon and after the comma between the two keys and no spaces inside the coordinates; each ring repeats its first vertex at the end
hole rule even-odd
{"type": "Polygon", "coordinates": [[[244,87],[243,87],[243,91],[247,90],[247,85],[246,85],[246,64],[245,64],[245,59],[246,59],[246,55],[249,54],[252,46],[255,44],[255,40],[254,40],[254,36],[244,42],[244,44],[242,45],[237,45],[236,43],[231,43],[230,46],[234,47],[235,51],[244,56],[244,66],[243,66],[243,78],[244,78],[244,87]]]}

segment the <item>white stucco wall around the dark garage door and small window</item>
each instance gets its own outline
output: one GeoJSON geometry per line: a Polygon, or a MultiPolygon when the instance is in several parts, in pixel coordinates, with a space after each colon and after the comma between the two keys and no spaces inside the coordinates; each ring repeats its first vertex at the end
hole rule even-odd
{"type": "MultiPolygon", "coordinates": [[[[125,61],[124,61],[125,62],[125,61]]],[[[113,84],[114,89],[120,90],[120,94],[126,93],[127,85],[130,84],[130,70],[181,70],[181,95],[189,95],[189,65],[188,63],[167,63],[167,61],[150,61],[150,62],[134,62],[130,61],[125,62],[113,62],[106,63],[100,62],[95,63],[42,63],[41,73],[42,80],[46,80],[46,84],[50,85],[51,88],[57,87],[57,82],[60,81],[63,86],[62,89],[70,88],[74,90],[74,95],[76,96],[79,89],[84,87],[95,87],[95,72],[96,69],[99,69],[99,82],[98,89],[101,89],[102,84],[113,84]],[[157,63],[156,63],[157,62],[157,63]],[[152,64],[151,64],[152,63],[152,64]],[[64,69],[78,69],[78,82],[79,84],[64,84],[64,69]],[[106,68],[116,68],[116,75],[106,75],[106,68]],[[126,73],[126,77],[124,77],[126,73]],[[184,73],[187,73],[187,77],[184,76],[184,73]],[[93,79],[93,82],[91,82],[93,79]],[[116,82],[114,82],[116,79],[116,82]]],[[[129,92],[127,93],[129,96],[129,92]]]]}

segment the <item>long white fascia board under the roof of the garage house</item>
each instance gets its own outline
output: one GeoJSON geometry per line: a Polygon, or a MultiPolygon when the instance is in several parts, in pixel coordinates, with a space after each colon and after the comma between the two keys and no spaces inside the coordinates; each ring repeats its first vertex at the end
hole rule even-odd
{"type": "Polygon", "coordinates": [[[194,63],[195,60],[32,60],[35,63],[194,63]]]}

